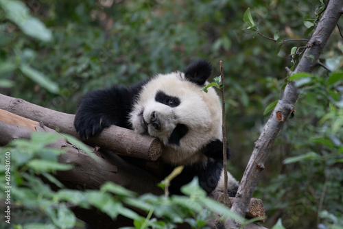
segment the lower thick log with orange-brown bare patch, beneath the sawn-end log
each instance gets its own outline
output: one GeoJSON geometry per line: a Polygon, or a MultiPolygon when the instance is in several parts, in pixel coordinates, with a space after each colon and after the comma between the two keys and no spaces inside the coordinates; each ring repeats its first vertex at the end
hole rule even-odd
{"type": "MultiPolygon", "coordinates": [[[[0,145],[5,145],[16,138],[30,138],[34,131],[58,134],[42,123],[25,119],[1,109],[0,130],[0,145]]],[[[67,152],[64,154],[60,154],[59,161],[74,165],[73,169],[56,173],[57,178],[62,182],[73,184],[75,187],[85,186],[89,189],[99,189],[100,185],[111,181],[139,194],[163,194],[163,190],[157,186],[160,180],[139,167],[111,165],[100,157],[98,161],[95,161],[82,150],[67,143],[62,137],[56,143],[50,144],[49,147],[66,150],[67,152]]]]}

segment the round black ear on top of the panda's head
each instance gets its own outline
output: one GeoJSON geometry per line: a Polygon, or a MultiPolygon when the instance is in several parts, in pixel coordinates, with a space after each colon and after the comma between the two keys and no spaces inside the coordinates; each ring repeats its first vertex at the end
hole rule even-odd
{"type": "Polygon", "coordinates": [[[211,76],[212,67],[206,60],[198,60],[193,64],[189,64],[183,72],[185,73],[185,78],[187,80],[194,84],[198,84],[199,86],[203,86],[206,80],[211,76]]]}

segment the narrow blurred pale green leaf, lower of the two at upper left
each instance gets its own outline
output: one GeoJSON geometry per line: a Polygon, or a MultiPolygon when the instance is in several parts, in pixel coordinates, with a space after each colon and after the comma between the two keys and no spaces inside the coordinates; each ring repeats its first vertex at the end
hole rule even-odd
{"type": "Polygon", "coordinates": [[[29,77],[40,86],[43,86],[43,88],[46,88],[47,91],[55,94],[58,93],[58,85],[49,80],[49,78],[46,77],[43,73],[40,73],[36,69],[32,69],[32,67],[29,67],[27,64],[22,64],[20,69],[24,75],[29,77]]]}

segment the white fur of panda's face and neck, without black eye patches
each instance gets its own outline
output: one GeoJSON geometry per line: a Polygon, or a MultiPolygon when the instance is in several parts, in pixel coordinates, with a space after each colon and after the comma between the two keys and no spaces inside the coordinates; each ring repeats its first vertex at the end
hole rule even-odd
{"type": "MultiPolygon", "coordinates": [[[[207,82],[206,82],[207,83],[207,82]]],[[[141,93],[130,113],[130,123],[136,132],[144,132],[143,118],[150,120],[151,112],[158,112],[161,120],[161,131],[148,125],[150,136],[159,138],[165,145],[162,158],[174,165],[191,165],[196,162],[206,163],[200,149],[214,139],[222,140],[222,108],[220,99],[213,88],[208,93],[185,80],[181,72],[156,75],[143,86],[141,93]],[[158,91],[166,95],[178,97],[180,105],[169,107],[155,101],[158,91]],[[189,129],[180,140],[180,145],[168,144],[169,136],[176,125],[185,124],[189,129]]]]}

